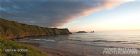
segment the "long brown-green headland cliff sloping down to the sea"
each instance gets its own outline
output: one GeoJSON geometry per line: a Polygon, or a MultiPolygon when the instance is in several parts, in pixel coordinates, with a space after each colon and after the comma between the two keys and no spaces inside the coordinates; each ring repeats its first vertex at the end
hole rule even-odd
{"type": "Polygon", "coordinates": [[[8,39],[26,36],[52,36],[71,34],[68,29],[46,28],[8,21],[0,18],[0,37],[8,39]]]}

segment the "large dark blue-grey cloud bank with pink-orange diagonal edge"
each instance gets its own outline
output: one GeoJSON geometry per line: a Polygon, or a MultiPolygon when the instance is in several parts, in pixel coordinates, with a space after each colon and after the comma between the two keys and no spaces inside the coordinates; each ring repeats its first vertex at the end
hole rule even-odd
{"type": "Polygon", "coordinates": [[[121,0],[0,0],[0,16],[27,24],[57,27],[122,3],[121,0]]]}

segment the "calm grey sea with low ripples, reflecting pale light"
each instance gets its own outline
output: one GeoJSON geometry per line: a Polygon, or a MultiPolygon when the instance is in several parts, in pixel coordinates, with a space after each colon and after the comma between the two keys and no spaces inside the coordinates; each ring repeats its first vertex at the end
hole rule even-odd
{"type": "Polygon", "coordinates": [[[25,38],[19,41],[38,43],[39,46],[43,48],[52,48],[78,54],[80,56],[105,56],[102,54],[104,48],[137,48],[139,50],[140,31],[73,33],[71,35],[51,36],[49,38],[25,38]]]}

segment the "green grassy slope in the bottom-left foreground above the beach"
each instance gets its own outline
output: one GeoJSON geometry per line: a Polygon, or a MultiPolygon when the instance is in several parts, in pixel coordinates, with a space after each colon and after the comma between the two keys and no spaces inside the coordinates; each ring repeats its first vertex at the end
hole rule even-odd
{"type": "Polygon", "coordinates": [[[47,54],[28,44],[21,44],[11,40],[0,40],[0,56],[47,56],[47,54]],[[24,51],[5,51],[7,49],[24,49],[24,51]]]}

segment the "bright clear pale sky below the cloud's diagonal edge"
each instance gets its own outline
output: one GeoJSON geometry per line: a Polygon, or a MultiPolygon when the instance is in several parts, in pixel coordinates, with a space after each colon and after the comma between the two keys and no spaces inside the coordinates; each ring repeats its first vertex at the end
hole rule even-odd
{"type": "Polygon", "coordinates": [[[96,31],[140,30],[140,2],[135,2],[135,0],[123,1],[127,3],[80,17],[63,27],[69,27],[73,32],[77,30],[90,32],[93,29],[96,31]]]}

